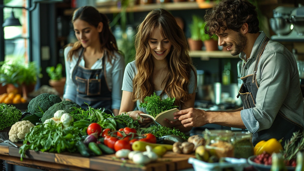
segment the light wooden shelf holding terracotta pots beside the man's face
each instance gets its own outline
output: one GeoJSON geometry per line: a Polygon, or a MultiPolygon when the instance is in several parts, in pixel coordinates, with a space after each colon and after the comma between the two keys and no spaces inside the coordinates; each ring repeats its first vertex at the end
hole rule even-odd
{"type": "Polygon", "coordinates": [[[190,51],[190,57],[208,60],[209,58],[239,58],[239,55],[232,56],[229,51],[190,51]]]}

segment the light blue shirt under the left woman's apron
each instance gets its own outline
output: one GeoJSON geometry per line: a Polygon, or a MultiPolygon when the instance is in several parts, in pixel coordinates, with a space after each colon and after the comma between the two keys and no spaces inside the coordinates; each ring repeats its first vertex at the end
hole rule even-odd
{"type": "MultiPolygon", "coordinates": [[[[72,72],[75,68],[75,65],[78,61],[78,57],[81,53],[81,50],[78,51],[77,55],[73,56],[72,61],[67,60],[67,54],[71,50],[71,46],[68,46],[64,49],[64,59],[65,59],[65,72],[66,72],[66,88],[63,95],[64,99],[70,99],[75,101],[76,99],[76,86],[72,80],[72,72]]],[[[125,70],[125,61],[123,57],[115,52],[114,55],[116,58],[112,59],[112,64],[108,60],[105,60],[105,68],[106,68],[106,79],[107,84],[110,90],[112,90],[112,109],[120,108],[122,91],[121,87],[123,84],[123,73],[125,70]]],[[[79,62],[79,66],[85,66],[85,60],[81,57],[81,61],[79,62]]],[[[92,65],[91,69],[102,69],[102,60],[99,59],[92,65]]]]}

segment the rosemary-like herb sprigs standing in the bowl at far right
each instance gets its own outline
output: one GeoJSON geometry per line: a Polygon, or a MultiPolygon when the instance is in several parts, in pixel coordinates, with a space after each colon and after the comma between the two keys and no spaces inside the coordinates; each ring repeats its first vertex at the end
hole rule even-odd
{"type": "Polygon", "coordinates": [[[283,159],[289,161],[295,157],[297,152],[304,150],[304,131],[294,132],[292,138],[290,140],[285,141],[284,150],[281,151],[283,155],[283,159]],[[298,141],[300,139],[300,141],[298,141]]]}

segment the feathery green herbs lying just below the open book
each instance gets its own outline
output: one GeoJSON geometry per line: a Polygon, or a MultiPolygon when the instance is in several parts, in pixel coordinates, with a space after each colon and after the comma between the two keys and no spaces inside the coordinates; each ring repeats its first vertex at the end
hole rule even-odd
{"type": "Polygon", "coordinates": [[[186,136],[184,132],[178,131],[175,128],[168,128],[161,125],[151,125],[149,128],[142,128],[144,134],[150,133],[153,134],[155,137],[162,137],[165,135],[177,135],[184,139],[188,139],[189,137],[186,136]]]}

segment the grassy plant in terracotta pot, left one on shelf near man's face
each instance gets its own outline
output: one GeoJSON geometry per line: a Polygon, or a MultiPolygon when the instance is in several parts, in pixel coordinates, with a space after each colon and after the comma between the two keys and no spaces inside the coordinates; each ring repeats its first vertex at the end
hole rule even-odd
{"type": "Polygon", "coordinates": [[[192,24],[190,24],[191,38],[188,38],[188,44],[191,51],[202,50],[201,27],[203,20],[198,16],[192,16],[192,24]]]}

